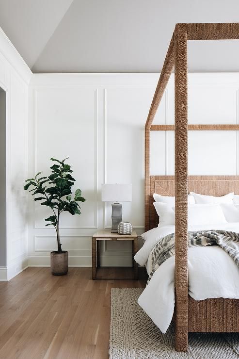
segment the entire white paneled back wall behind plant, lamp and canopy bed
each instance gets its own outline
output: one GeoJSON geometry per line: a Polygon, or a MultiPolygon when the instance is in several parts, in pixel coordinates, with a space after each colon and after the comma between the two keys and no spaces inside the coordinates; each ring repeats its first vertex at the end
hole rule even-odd
{"type": "MultiPolygon", "coordinates": [[[[132,183],[123,220],[138,234],[144,226],[144,123],[158,74],[43,74],[30,84],[29,175],[49,173],[49,158],[69,156],[75,188],[86,202],[82,214],[64,213],[61,236],[70,265],[91,265],[91,236],[111,227],[111,204],[101,202],[101,183],[132,183]]],[[[189,74],[190,123],[238,123],[239,74],[189,74]]],[[[174,123],[174,79],[155,124],[174,123]]],[[[191,131],[191,175],[239,174],[238,133],[191,131]]],[[[151,174],[174,174],[174,132],[151,132],[151,174]]],[[[54,228],[44,227],[48,209],[29,199],[29,262],[49,265],[54,228]]],[[[102,265],[129,265],[131,245],[102,245],[102,265]]]]}

